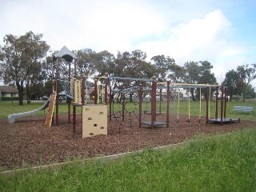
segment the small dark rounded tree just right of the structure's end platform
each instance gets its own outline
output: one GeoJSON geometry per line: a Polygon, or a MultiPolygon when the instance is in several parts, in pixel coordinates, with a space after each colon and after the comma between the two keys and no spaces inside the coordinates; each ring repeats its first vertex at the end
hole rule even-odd
{"type": "Polygon", "coordinates": [[[224,80],[225,85],[227,86],[227,95],[230,96],[230,102],[233,99],[235,94],[238,94],[238,72],[235,70],[230,70],[226,73],[224,80]]]}

